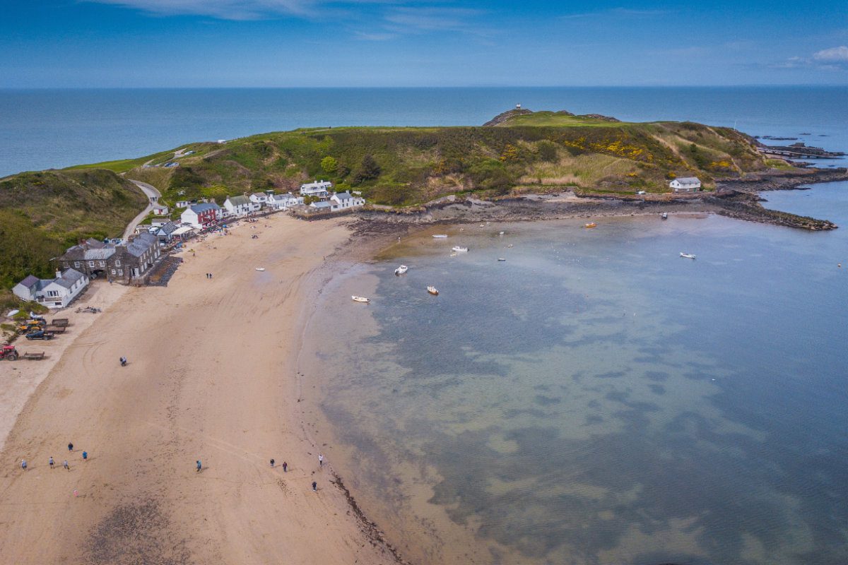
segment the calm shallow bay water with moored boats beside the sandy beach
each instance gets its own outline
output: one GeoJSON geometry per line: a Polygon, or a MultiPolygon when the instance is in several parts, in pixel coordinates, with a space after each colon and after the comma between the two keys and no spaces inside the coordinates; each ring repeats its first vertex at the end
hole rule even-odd
{"type": "MultiPolygon", "coordinates": [[[[848,227],[848,183],[766,197],[848,227]]],[[[425,234],[327,287],[366,512],[426,562],[848,562],[848,229],[597,221],[425,234]]]]}

